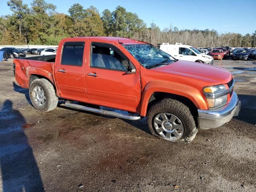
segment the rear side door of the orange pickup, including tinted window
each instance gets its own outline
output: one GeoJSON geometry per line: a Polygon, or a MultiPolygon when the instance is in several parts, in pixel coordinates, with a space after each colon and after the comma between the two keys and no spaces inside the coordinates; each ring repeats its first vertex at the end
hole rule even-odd
{"type": "Polygon", "coordinates": [[[65,99],[86,101],[85,41],[60,43],[55,62],[55,80],[60,96],[65,99]]]}

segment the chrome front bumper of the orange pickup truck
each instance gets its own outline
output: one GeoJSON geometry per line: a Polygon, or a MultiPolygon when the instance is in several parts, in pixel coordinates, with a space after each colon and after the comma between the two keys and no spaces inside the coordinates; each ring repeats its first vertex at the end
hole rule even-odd
{"type": "Polygon", "coordinates": [[[198,121],[200,129],[210,129],[222,126],[229,122],[233,116],[238,116],[241,102],[236,92],[233,92],[230,102],[220,109],[200,110],[198,109],[198,121]]]}

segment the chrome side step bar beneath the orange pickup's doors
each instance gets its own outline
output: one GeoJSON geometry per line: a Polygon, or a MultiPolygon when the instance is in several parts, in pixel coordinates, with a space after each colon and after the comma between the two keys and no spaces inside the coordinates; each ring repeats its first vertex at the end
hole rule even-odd
{"type": "Polygon", "coordinates": [[[109,115],[109,116],[132,120],[132,121],[140,120],[140,116],[126,115],[126,114],[121,114],[121,113],[117,113],[117,112],[113,112],[113,111],[96,109],[96,108],[92,108],[92,107],[86,107],[86,106],[70,103],[69,101],[66,101],[65,104],[62,104],[62,106],[79,109],[79,110],[84,110],[84,111],[89,111],[89,112],[94,112],[94,113],[98,113],[98,114],[102,114],[102,115],[109,115]]]}

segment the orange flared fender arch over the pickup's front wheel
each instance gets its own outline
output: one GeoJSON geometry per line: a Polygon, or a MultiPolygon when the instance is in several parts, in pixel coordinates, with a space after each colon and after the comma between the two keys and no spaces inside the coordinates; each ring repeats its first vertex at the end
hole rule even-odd
{"type": "Polygon", "coordinates": [[[208,109],[203,93],[192,86],[177,82],[151,81],[146,84],[142,92],[142,104],[140,106],[141,116],[146,116],[148,101],[154,92],[180,95],[191,100],[198,109],[208,109]]]}

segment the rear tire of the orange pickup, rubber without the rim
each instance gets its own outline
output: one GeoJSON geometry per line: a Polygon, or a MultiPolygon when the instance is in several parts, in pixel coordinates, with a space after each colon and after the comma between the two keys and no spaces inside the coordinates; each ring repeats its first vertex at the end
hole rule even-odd
{"type": "Polygon", "coordinates": [[[36,79],[32,81],[29,87],[29,97],[34,108],[42,112],[53,110],[58,104],[58,97],[56,96],[54,86],[46,79],[36,79]],[[36,86],[40,86],[44,90],[44,95],[46,97],[44,106],[39,106],[33,99],[32,92],[36,86]]]}

